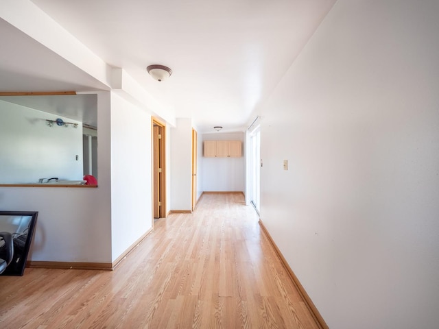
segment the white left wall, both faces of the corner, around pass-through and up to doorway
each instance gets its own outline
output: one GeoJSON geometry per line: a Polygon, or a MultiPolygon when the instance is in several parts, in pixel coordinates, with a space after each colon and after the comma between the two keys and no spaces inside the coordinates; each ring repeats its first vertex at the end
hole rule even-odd
{"type": "Polygon", "coordinates": [[[106,92],[97,115],[97,188],[0,187],[0,210],[39,212],[29,260],[111,263],[152,228],[151,116],[106,92]]]}

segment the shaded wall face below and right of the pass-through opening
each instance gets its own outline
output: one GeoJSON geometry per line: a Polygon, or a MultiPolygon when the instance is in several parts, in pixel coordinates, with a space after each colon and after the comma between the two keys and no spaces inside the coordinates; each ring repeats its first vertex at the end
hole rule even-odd
{"type": "Polygon", "coordinates": [[[0,187],[0,210],[39,212],[28,260],[111,262],[109,108],[98,93],[97,188],[0,187]]]}

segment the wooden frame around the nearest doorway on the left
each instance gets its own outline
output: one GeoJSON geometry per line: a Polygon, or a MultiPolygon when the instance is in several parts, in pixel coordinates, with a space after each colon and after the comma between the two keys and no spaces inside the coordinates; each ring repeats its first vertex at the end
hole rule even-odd
{"type": "Polygon", "coordinates": [[[152,173],[152,195],[151,195],[151,204],[152,204],[152,221],[154,224],[154,125],[159,127],[159,134],[161,134],[161,138],[158,140],[159,153],[161,154],[160,165],[161,165],[161,175],[158,178],[159,185],[159,199],[161,200],[161,206],[158,210],[158,217],[165,218],[167,216],[166,213],[166,123],[161,121],[156,117],[151,118],[151,173],[152,173]]]}

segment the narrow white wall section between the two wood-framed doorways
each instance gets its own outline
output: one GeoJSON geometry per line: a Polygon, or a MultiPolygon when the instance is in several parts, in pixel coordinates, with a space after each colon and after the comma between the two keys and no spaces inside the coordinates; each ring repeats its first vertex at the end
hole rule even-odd
{"type": "Polygon", "coordinates": [[[171,128],[171,210],[192,206],[192,120],[176,119],[171,128]]]}

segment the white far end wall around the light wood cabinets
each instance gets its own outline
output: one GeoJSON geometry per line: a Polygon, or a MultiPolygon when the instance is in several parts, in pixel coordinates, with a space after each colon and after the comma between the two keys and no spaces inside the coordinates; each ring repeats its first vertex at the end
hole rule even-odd
{"type": "MultiPolygon", "coordinates": [[[[241,141],[244,132],[203,134],[203,141],[241,141]]],[[[203,158],[203,191],[208,192],[243,192],[245,191],[244,146],[241,158],[203,158]]]]}

